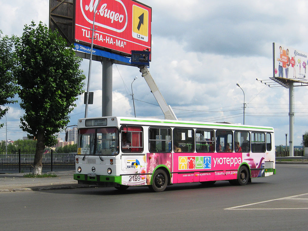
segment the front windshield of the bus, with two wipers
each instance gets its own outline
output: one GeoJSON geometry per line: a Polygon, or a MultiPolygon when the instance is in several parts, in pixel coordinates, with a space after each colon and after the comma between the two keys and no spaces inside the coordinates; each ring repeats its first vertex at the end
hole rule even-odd
{"type": "Polygon", "coordinates": [[[78,152],[80,155],[115,156],[119,152],[118,128],[79,129],[78,152]]]}

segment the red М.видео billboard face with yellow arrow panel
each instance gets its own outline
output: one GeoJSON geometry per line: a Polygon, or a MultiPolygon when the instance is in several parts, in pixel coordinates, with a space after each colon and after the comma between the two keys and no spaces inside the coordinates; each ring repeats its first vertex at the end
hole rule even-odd
{"type": "Polygon", "coordinates": [[[151,51],[152,8],[132,0],[76,0],[75,41],[98,49],[130,55],[132,50],[151,51]]]}

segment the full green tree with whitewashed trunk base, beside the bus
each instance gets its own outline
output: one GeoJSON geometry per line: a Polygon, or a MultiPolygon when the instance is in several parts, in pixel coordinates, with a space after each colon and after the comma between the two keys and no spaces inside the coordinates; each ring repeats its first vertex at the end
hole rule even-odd
{"type": "Polygon", "coordinates": [[[25,110],[21,128],[30,139],[36,139],[33,174],[42,173],[42,156],[46,146],[56,144],[58,133],[69,122],[78,95],[84,91],[85,76],[79,70],[81,58],[75,56],[73,46],[39,23],[25,26],[22,37],[15,44],[18,65],[14,75],[18,79],[25,110]]]}

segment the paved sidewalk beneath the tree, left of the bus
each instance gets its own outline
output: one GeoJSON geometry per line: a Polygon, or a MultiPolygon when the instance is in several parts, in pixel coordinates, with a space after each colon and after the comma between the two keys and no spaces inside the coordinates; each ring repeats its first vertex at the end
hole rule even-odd
{"type": "Polygon", "coordinates": [[[48,173],[56,174],[57,177],[27,178],[23,177],[26,173],[0,174],[0,193],[95,187],[78,184],[74,180],[75,170],[48,173]]]}

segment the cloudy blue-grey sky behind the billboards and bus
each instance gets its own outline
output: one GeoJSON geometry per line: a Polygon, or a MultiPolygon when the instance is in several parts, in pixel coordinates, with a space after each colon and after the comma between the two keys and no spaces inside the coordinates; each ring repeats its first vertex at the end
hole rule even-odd
{"type": "MultiPolygon", "coordinates": [[[[49,0],[1,0],[0,29],[21,36],[32,20],[48,25],[49,0]]],[[[308,52],[306,1],[140,0],[152,7],[152,62],[149,71],[179,120],[243,123],[275,129],[275,143],[289,134],[289,90],[268,87],[257,79],[273,73],[272,43],[308,52]]],[[[81,68],[88,76],[89,60],[81,68]]],[[[113,115],[163,119],[163,113],[139,69],[113,65],[113,115]]],[[[87,80],[86,80],[87,81],[87,80]]],[[[87,82],[86,82],[87,83],[87,82]]],[[[85,89],[86,89],[85,84],[85,89]]],[[[274,85],[272,85],[274,86],[274,85]]],[[[88,117],[102,115],[102,66],[92,62],[90,91],[94,104],[88,117]]],[[[294,87],[294,145],[308,130],[307,87],[294,87]]],[[[76,102],[69,125],[84,117],[83,96],[76,102]]],[[[19,129],[23,111],[10,105],[7,138],[26,136],[19,129]]],[[[5,123],[5,118],[2,118],[5,123]]],[[[5,140],[5,126],[0,140],[5,140]]],[[[61,134],[64,137],[64,133],[61,134]]],[[[289,137],[289,135],[288,135],[289,137]]],[[[289,141],[289,139],[288,139],[289,141]]]]}

